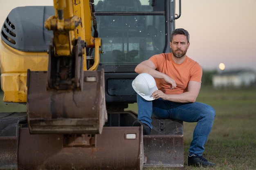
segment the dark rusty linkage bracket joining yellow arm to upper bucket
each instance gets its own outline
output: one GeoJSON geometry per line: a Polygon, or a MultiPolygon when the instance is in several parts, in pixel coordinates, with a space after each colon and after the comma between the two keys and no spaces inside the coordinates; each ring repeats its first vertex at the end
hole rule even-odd
{"type": "MultiPolygon", "coordinates": [[[[47,87],[56,90],[83,90],[83,53],[85,42],[78,37],[71,55],[57,55],[57,44],[52,39],[49,45],[47,87]],[[54,50],[55,49],[55,50],[54,50]]],[[[61,52],[65,52],[61,50],[61,52]]],[[[69,53],[70,51],[68,51],[69,53]]]]}

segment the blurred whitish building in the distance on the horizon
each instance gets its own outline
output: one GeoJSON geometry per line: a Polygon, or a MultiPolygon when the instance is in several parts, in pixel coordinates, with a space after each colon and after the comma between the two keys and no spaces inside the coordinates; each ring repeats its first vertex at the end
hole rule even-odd
{"type": "Polygon", "coordinates": [[[213,75],[212,83],[214,88],[251,86],[256,82],[256,73],[252,70],[225,71],[213,75]]]}

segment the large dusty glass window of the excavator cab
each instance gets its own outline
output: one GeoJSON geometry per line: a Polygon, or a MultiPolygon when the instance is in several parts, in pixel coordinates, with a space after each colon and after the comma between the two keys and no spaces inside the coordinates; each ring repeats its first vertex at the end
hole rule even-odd
{"type": "Polygon", "coordinates": [[[135,66],[166,44],[165,0],[94,0],[103,66],[135,66]]]}

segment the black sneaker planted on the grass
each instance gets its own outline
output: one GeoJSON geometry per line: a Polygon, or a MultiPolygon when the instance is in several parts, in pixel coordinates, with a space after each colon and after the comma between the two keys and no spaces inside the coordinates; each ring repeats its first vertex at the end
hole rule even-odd
{"type": "Polygon", "coordinates": [[[216,166],[216,164],[207,161],[207,159],[202,156],[197,157],[195,155],[191,155],[188,158],[188,166],[216,166]]]}

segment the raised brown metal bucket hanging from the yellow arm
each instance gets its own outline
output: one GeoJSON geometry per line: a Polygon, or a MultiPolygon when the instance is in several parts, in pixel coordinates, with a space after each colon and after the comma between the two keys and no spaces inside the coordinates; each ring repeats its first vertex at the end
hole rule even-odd
{"type": "Polygon", "coordinates": [[[104,71],[84,71],[80,89],[47,86],[46,71],[28,71],[30,133],[101,133],[107,120],[104,71]]]}

